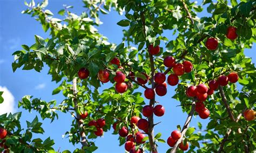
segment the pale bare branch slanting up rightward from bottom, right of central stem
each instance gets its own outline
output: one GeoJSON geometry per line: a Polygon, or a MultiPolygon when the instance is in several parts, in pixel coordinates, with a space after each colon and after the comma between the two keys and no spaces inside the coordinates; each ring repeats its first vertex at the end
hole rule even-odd
{"type": "Polygon", "coordinates": [[[189,125],[190,125],[192,116],[193,116],[193,114],[194,114],[194,109],[195,109],[195,107],[196,107],[196,101],[193,100],[190,113],[188,114],[187,120],[186,120],[186,122],[185,122],[185,124],[184,124],[184,126],[183,126],[183,128],[182,128],[182,130],[181,130],[181,137],[179,138],[179,140],[176,142],[176,144],[175,144],[174,147],[172,148],[171,153],[174,153],[174,152],[177,151],[177,149],[178,149],[178,147],[179,147],[179,144],[181,143],[181,141],[182,141],[182,139],[183,139],[183,137],[184,137],[184,135],[185,135],[185,133],[186,133],[186,131],[187,131],[189,125]]]}

